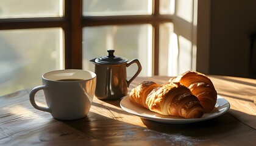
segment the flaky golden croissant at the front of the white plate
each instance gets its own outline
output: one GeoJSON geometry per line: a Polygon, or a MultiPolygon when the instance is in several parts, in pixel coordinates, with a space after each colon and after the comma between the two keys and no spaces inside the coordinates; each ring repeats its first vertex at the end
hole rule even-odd
{"type": "Polygon", "coordinates": [[[199,100],[193,96],[190,89],[180,83],[158,85],[145,81],[132,89],[129,99],[163,115],[199,118],[204,114],[199,100]]]}

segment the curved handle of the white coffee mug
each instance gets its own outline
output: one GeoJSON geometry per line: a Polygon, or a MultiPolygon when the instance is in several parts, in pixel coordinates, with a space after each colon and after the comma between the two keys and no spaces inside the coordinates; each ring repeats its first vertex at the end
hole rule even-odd
{"type": "Polygon", "coordinates": [[[41,85],[41,86],[36,86],[35,88],[33,88],[31,91],[30,91],[30,94],[29,94],[29,100],[30,100],[30,103],[32,106],[34,106],[35,109],[38,109],[38,110],[41,110],[41,111],[47,111],[49,113],[51,113],[51,108],[49,107],[43,107],[43,106],[38,106],[37,103],[35,103],[35,94],[40,91],[40,90],[43,90],[43,89],[46,89],[46,86],[45,85],[41,85]]]}

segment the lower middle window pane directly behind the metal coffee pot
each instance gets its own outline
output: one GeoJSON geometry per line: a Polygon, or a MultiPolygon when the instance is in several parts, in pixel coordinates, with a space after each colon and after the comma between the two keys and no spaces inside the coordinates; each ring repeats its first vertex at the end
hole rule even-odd
{"type": "MultiPolygon", "coordinates": [[[[115,55],[129,61],[138,58],[142,71],[140,76],[152,74],[152,26],[100,26],[83,29],[83,69],[94,71],[93,58],[107,55],[108,49],[115,49],[115,55]]],[[[136,65],[127,69],[127,77],[137,71],[136,65]]]]}

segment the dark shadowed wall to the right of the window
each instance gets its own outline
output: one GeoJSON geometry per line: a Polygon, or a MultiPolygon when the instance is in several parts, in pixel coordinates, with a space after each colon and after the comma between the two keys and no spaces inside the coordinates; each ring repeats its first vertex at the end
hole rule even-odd
{"type": "Polygon", "coordinates": [[[214,0],[200,4],[202,2],[199,3],[199,16],[202,16],[198,18],[197,52],[202,50],[199,61],[207,60],[205,56],[208,60],[204,65],[199,63],[197,70],[207,74],[249,77],[249,35],[256,32],[256,1],[214,0]],[[205,5],[207,10],[202,9],[205,5]],[[203,46],[200,41],[206,44],[203,46]]]}

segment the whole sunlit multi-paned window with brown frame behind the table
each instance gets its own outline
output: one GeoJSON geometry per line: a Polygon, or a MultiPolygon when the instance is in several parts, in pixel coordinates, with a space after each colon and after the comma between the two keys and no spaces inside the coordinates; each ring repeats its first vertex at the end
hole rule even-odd
{"type": "MultiPolygon", "coordinates": [[[[90,60],[107,55],[107,49],[128,60],[138,58],[140,76],[192,68],[194,41],[180,30],[193,28],[194,1],[186,7],[184,2],[0,0],[0,96],[41,85],[41,75],[54,69],[94,71],[90,60]],[[176,27],[183,21],[188,25],[176,27]],[[180,52],[188,57],[181,61],[185,68],[180,52]]],[[[137,68],[129,68],[131,77],[137,68]]]]}

